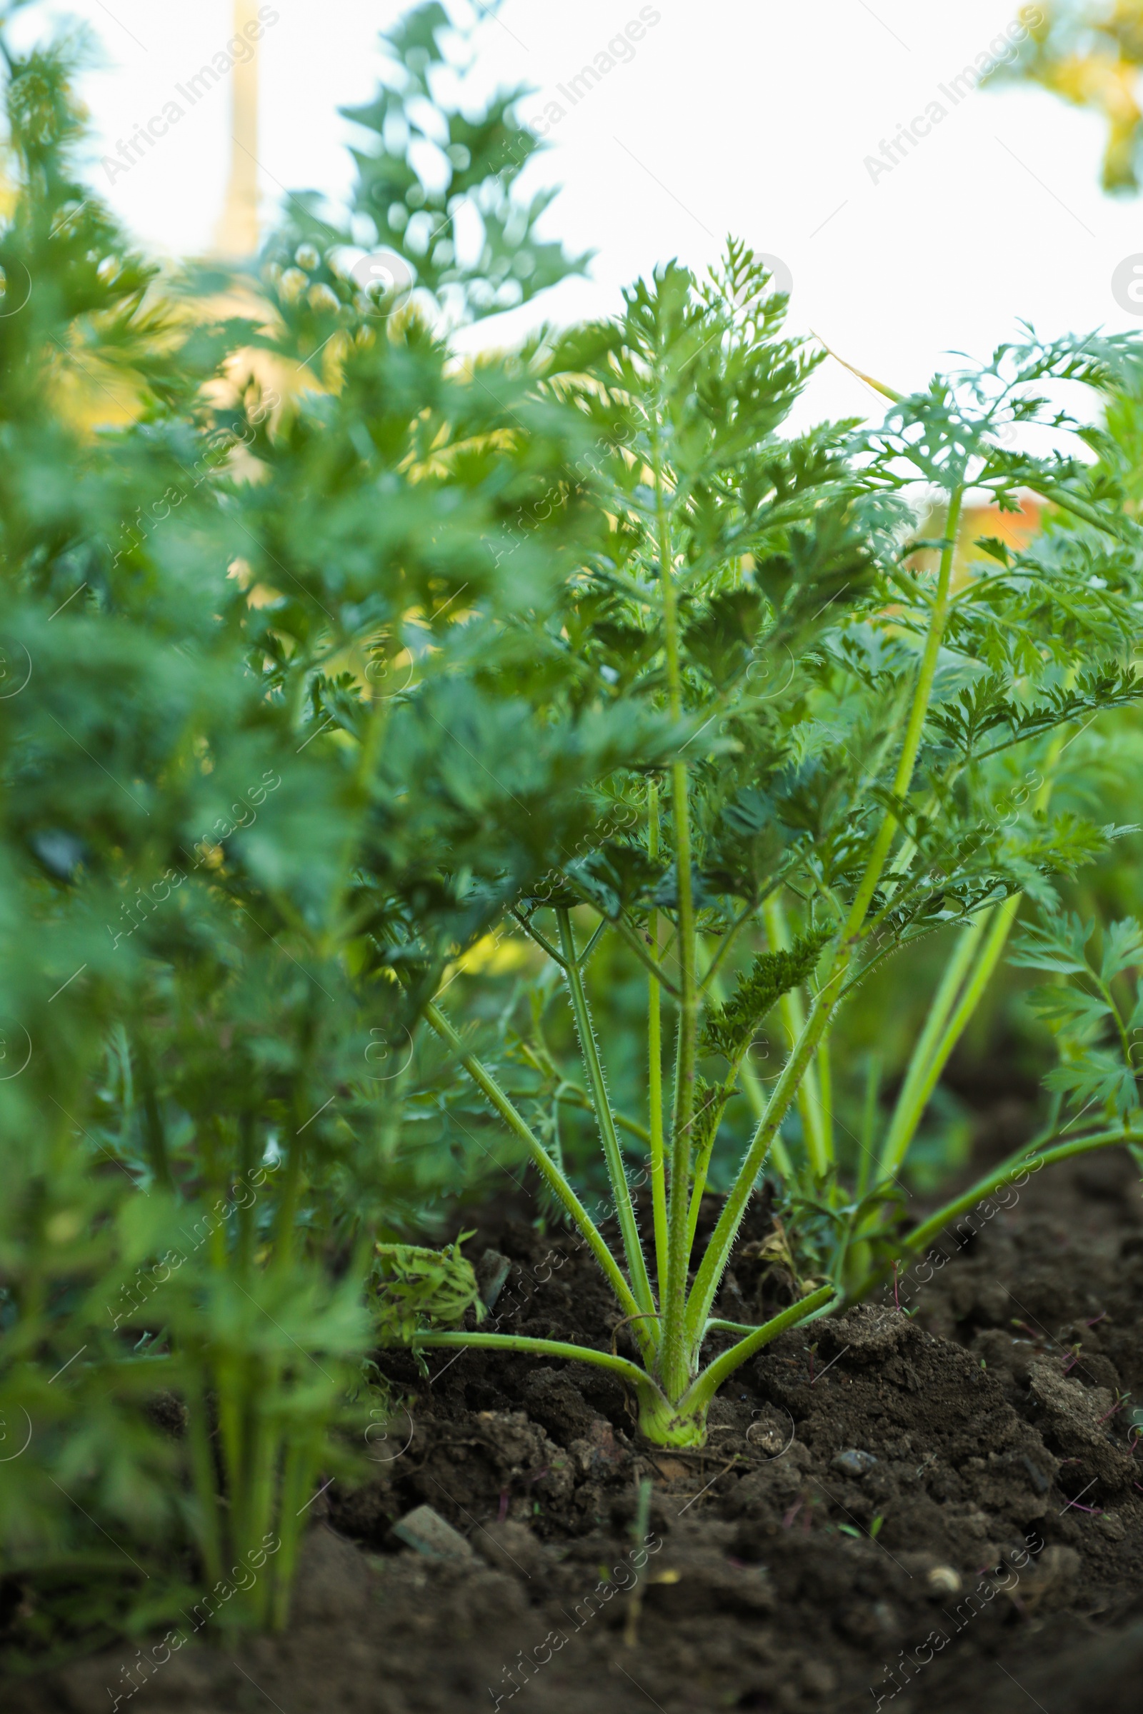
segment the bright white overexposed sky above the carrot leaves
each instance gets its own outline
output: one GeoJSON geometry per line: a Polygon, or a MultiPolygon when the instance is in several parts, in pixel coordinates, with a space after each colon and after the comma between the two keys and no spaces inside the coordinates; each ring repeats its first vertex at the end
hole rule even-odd
{"type": "MultiPolygon", "coordinates": [[[[392,0],[276,0],[262,43],[259,156],[266,216],[286,187],[338,195],[350,178],[339,105],[368,98],[392,0]]],[[[589,63],[639,0],[507,0],[482,27],[488,81],[540,91],[589,63]]],[[[552,129],[543,158],[564,192],[548,221],[595,249],[589,283],[547,300],[571,319],[615,307],[619,286],[679,255],[703,267],[733,230],[781,257],[792,321],[898,389],[948,350],[987,355],[1018,317],[1056,334],[1141,326],[1116,303],[1117,262],[1143,252],[1143,199],[1098,189],[1100,122],[1037,89],[937,94],[1014,17],[1011,0],[658,0],[629,63],[552,129]],[[893,171],[864,158],[939,99],[948,117],[893,171]]],[[[224,46],[231,0],[72,0],[21,26],[86,19],[103,65],[84,81],[106,147],[158,113],[173,86],[224,46]]],[[[230,111],[216,89],[106,190],[163,252],[202,250],[223,199],[230,111]]],[[[93,161],[94,182],[106,189],[93,161]]],[[[1141,305],[1143,310],[1143,305],[1141,305]]],[[[838,365],[814,382],[814,415],[874,410],[838,365]]],[[[881,415],[881,406],[876,408],[881,415]]]]}

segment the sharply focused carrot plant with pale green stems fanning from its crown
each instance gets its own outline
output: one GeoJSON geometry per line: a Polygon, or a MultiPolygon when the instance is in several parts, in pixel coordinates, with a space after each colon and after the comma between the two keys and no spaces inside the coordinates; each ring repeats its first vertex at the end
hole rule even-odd
{"type": "MultiPolygon", "coordinates": [[[[1038,425],[1044,444],[1078,434],[1098,449],[1044,389],[1129,382],[1131,341],[1028,338],[980,370],[889,394],[877,430],[783,434],[821,357],[781,336],[783,310],[732,243],[706,283],[673,264],[639,283],[615,324],[557,341],[542,377],[607,446],[591,490],[608,542],[576,574],[567,648],[603,699],[649,701],[682,732],[667,770],[612,780],[636,828],[557,864],[511,908],[566,984],[619,1253],[526,1102],[444,1003],[425,1008],[595,1253],[636,1356],[447,1328],[420,1344],[608,1368],[632,1387],[643,1433],[672,1445],[704,1440],[718,1387],[778,1332],[860,1297],[960,1207],[905,1232],[910,1147],[1021,900],[1050,905],[1054,878],[1116,836],[1069,800],[1085,766],[1073,746],[1140,694],[1143,538],[1122,488],[1068,451],[1006,444],[1038,425]],[[966,497],[1016,511],[1028,490],[1071,528],[1023,554],[961,540],[966,497]],[[845,1136],[838,1016],[874,970],[937,929],[948,958],[891,1114],[879,1121],[874,1090],[865,1135],[845,1136]],[[589,965],[605,934],[646,970],[637,1118],[608,1092],[593,1022],[589,965]],[[773,1006],[788,1047],[761,1076],[751,1046],[773,1006]],[[749,1109],[749,1126],[723,1124],[727,1109],[749,1109]],[[696,1250],[720,1130],[740,1159],[696,1250]],[[629,1184],[632,1135],[644,1138],[644,1207],[629,1184]],[[718,1316],[716,1299],[764,1169],[817,1279],[751,1327],[718,1316]]],[[[1078,968],[1071,956],[1052,968],[1078,968]]],[[[1076,1135],[1049,1128],[1020,1159],[1143,1136],[1134,1099],[1092,1088],[1076,1135]]],[[[999,1167],[973,1200],[1013,1171],[999,1167]]]]}

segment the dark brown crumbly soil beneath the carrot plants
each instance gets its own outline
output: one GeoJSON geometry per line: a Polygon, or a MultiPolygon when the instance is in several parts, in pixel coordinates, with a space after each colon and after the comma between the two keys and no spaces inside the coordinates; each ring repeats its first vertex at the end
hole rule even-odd
{"type": "MultiPolygon", "coordinates": [[[[434,1352],[425,1378],[386,1354],[411,1414],[370,1435],[374,1483],[315,1507],[288,1635],[185,1647],[132,1711],[1134,1711],[1138,1174],[1090,1157],[977,1227],[900,1306],[888,1289],[747,1364],[696,1453],[639,1445],[622,1385],[586,1364],[434,1352]],[[422,1505],[463,1558],[392,1534],[422,1505]]],[[[757,1208],[723,1315],[783,1301],[768,1231],[757,1208]]],[[[468,1250],[485,1248],[511,1262],[500,1327],[610,1347],[619,1313],[571,1236],[487,1219],[468,1250]]],[[[106,1711],[132,1659],[10,1687],[7,1705],[106,1711]]]]}

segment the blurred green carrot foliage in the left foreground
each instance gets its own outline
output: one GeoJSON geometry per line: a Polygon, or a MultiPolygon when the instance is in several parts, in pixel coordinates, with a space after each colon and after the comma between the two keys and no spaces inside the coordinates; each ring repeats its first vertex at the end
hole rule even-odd
{"type": "Polygon", "coordinates": [[[355,274],[367,211],[379,240],[423,201],[382,132],[403,99],[427,118],[444,29],[430,5],[392,36],[353,226],[296,199],[223,322],[233,281],[163,278],[84,185],[67,53],[0,34],[0,1647],[24,1661],[178,1609],[284,1625],[315,1491],[353,1465],[374,1246],[504,1154],[458,1147],[487,1124],[413,1042],[422,991],[583,823],[576,788],[670,752],[667,718],[536,667],[605,536],[586,499],[543,507],[589,425],[526,355],[461,365],[435,331],[449,288],[490,314],[576,266],[516,189],[509,98],[432,127],[487,245],[446,266],[410,218],[420,297],[355,274]]]}

